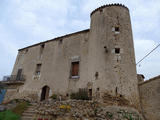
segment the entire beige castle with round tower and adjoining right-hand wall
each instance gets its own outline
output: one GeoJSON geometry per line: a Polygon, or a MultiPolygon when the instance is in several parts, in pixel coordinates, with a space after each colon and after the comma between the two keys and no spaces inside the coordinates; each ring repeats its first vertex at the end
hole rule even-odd
{"type": "Polygon", "coordinates": [[[86,89],[92,99],[103,101],[106,93],[123,97],[149,120],[160,118],[160,77],[147,82],[137,77],[129,9],[121,4],[94,10],[90,29],[19,49],[12,75],[4,79],[10,88],[4,101],[29,96],[42,101],[86,89]]]}

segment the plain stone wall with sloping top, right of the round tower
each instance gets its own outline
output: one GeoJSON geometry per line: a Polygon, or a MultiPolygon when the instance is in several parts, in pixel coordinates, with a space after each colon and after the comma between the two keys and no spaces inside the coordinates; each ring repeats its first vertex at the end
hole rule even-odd
{"type": "Polygon", "coordinates": [[[160,119],[160,76],[139,84],[140,100],[147,120],[160,119]]]}

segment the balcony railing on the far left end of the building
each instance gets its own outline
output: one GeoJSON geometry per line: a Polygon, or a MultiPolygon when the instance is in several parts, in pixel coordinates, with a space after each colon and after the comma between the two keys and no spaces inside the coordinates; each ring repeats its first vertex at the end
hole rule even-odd
{"type": "Polygon", "coordinates": [[[4,76],[3,83],[24,83],[25,75],[8,75],[4,76]]]}

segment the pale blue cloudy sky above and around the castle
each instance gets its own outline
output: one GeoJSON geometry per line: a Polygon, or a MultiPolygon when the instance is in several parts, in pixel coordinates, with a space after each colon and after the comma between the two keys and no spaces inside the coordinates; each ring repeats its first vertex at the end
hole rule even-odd
{"type": "MultiPolygon", "coordinates": [[[[11,74],[18,49],[88,29],[90,13],[108,3],[130,10],[137,62],[160,43],[160,0],[0,0],[0,79],[11,74]]],[[[137,72],[160,75],[160,47],[137,72]]]]}

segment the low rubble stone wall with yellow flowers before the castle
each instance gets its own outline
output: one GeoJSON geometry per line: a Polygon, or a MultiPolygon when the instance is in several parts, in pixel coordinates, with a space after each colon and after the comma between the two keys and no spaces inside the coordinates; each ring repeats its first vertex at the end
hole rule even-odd
{"type": "Polygon", "coordinates": [[[143,120],[137,110],[96,101],[50,101],[36,107],[35,120],[143,120]]]}

